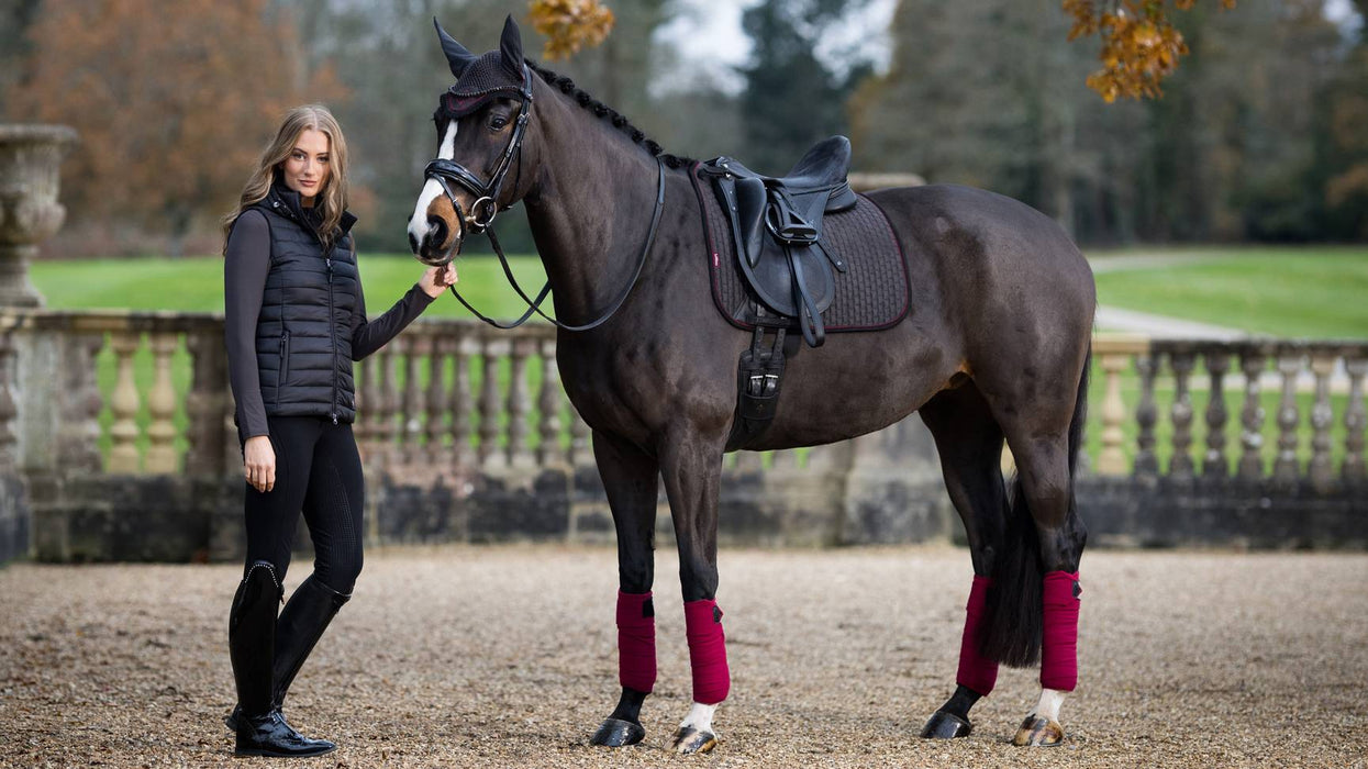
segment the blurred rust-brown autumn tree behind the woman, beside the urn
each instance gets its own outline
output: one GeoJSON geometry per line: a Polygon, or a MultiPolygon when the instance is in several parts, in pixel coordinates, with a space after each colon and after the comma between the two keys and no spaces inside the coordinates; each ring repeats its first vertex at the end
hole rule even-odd
{"type": "Polygon", "coordinates": [[[233,205],[286,109],[345,93],[326,67],[300,71],[267,0],[47,0],[29,37],[7,108],[81,133],[63,166],[74,218],[166,231],[172,255],[233,205]]]}

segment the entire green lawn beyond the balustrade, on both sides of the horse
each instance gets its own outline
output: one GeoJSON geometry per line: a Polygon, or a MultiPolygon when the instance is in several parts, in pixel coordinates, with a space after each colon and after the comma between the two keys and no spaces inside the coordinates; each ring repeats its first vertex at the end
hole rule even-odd
{"type": "MultiPolygon", "coordinates": [[[[1089,253],[1104,305],[1244,328],[1275,337],[1368,338],[1368,248],[1204,248],[1089,253]],[[1160,267],[1109,270],[1109,261],[1160,256],[1160,267]],[[1123,257],[1118,260],[1116,257],[1123,257]]],[[[534,294],[544,281],[536,257],[513,259],[534,294]]],[[[53,309],[131,308],[222,312],[219,257],[37,261],[33,282],[53,309]]],[[[460,290],[486,315],[516,317],[523,302],[498,261],[461,259],[460,290]]],[[[401,255],[363,255],[368,309],[382,312],[421,275],[401,255]]],[[[428,312],[469,317],[451,297],[428,312]]]]}

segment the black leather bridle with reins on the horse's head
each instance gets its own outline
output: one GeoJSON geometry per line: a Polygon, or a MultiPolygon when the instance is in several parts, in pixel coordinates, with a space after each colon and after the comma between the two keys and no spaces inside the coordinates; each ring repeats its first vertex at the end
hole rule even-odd
{"type": "MultiPolygon", "coordinates": [[[[446,94],[443,94],[443,100],[447,96],[454,96],[454,94],[451,92],[447,92],[446,94]]],[[[527,320],[535,312],[536,315],[540,315],[546,320],[551,322],[557,328],[562,328],[565,331],[588,331],[590,328],[596,328],[602,326],[603,323],[607,322],[609,317],[613,317],[613,315],[618,311],[618,308],[622,307],[622,302],[627,301],[628,294],[632,293],[632,289],[636,286],[636,282],[642,276],[642,268],[646,267],[646,256],[651,252],[651,245],[655,242],[655,230],[659,227],[661,223],[661,211],[665,208],[665,160],[661,159],[659,156],[655,157],[655,166],[659,174],[655,187],[655,212],[651,215],[651,229],[646,235],[646,245],[642,248],[642,255],[636,260],[636,271],[632,274],[632,279],[628,282],[627,287],[622,289],[622,291],[618,294],[617,300],[613,301],[613,305],[607,309],[607,312],[601,315],[596,320],[586,323],[583,326],[570,326],[568,323],[561,323],[560,320],[542,312],[542,301],[544,301],[547,294],[551,293],[551,282],[547,281],[546,285],[542,286],[542,290],[540,293],[538,293],[535,300],[528,298],[527,293],[523,290],[523,286],[520,286],[517,279],[513,276],[513,268],[509,267],[508,257],[503,256],[503,249],[499,246],[499,239],[494,234],[494,227],[492,227],[494,218],[501,211],[508,211],[510,208],[510,205],[499,207],[498,197],[499,192],[503,187],[503,179],[508,177],[509,168],[513,164],[514,156],[518,157],[518,174],[521,175],[523,172],[523,161],[521,161],[523,137],[527,133],[528,120],[532,118],[532,75],[528,71],[527,63],[523,64],[523,88],[517,99],[521,101],[521,105],[518,108],[517,122],[513,125],[513,134],[509,137],[509,144],[508,146],[503,148],[503,155],[499,157],[499,164],[494,168],[494,174],[490,177],[488,182],[482,182],[480,178],[472,174],[469,168],[461,166],[456,160],[445,160],[442,157],[430,161],[427,167],[423,170],[423,175],[424,178],[432,179],[438,185],[440,185],[442,192],[446,193],[447,200],[451,201],[451,208],[453,211],[456,211],[457,222],[461,226],[461,231],[457,233],[457,237],[451,242],[453,244],[462,242],[465,239],[466,229],[469,229],[471,233],[476,234],[484,233],[484,235],[490,238],[490,245],[494,246],[494,253],[498,255],[499,257],[499,265],[503,268],[503,276],[508,278],[509,285],[513,286],[513,290],[517,291],[517,296],[527,302],[528,309],[527,312],[523,313],[523,317],[518,317],[513,323],[499,323],[498,320],[492,320],[490,317],[486,317],[484,315],[480,315],[480,312],[473,307],[471,307],[471,304],[465,301],[465,297],[462,297],[456,290],[456,286],[447,286],[447,287],[450,289],[451,296],[454,296],[457,301],[460,301],[461,305],[465,307],[465,309],[471,311],[471,313],[475,315],[475,317],[479,317],[480,320],[488,323],[490,326],[494,326],[495,328],[517,328],[518,326],[527,323],[527,320]],[[471,194],[475,196],[475,203],[471,204],[469,213],[466,213],[461,208],[461,204],[456,200],[456,193],[451,192],[453,183],[464,187],[465,190],[468,190],[471,194]]],[[[453,116],[451,119],[454,120],[457,118],[453,116]]],[[[514,186],[517,186],[517,182],[514,182],[514,186]]],[[[450,259],[447,261],[450,261],[450,259]]]]}

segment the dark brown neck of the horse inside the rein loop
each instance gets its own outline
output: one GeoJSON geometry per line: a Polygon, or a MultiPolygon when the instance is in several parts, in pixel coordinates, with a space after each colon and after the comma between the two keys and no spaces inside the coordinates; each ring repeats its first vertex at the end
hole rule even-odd
{"type": "MultiPolygon", "coordinates": [[[[557,97],[560,94],[555,94],[557,97]]],[[[566,323],[595,320],[631,282],[655,207],[655,159],[561,99],[538,101],[540,174],[525,205],[566,323]]]]}

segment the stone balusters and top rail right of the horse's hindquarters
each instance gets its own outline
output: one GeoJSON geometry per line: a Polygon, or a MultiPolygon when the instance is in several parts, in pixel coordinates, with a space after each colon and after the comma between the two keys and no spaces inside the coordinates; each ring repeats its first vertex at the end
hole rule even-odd
{"type": "Polygon", "coordinates": [[[1271,480],[1285,490],[1308,483],[1321,493],[1364,483],[1368,342],[1100,334],[1093,359],[1104,382],[1099,475],[1271,480]],[[1140,391],[1126,402],[1130,372],[1140,391]],[[1194,393],[1205,402],[1200,413],[1194,393]],[[1135,439],[1127,446],[1131,420],[1135,439]],[[1166,446],[1159,445],[1161,427],[1166,446]]]}

